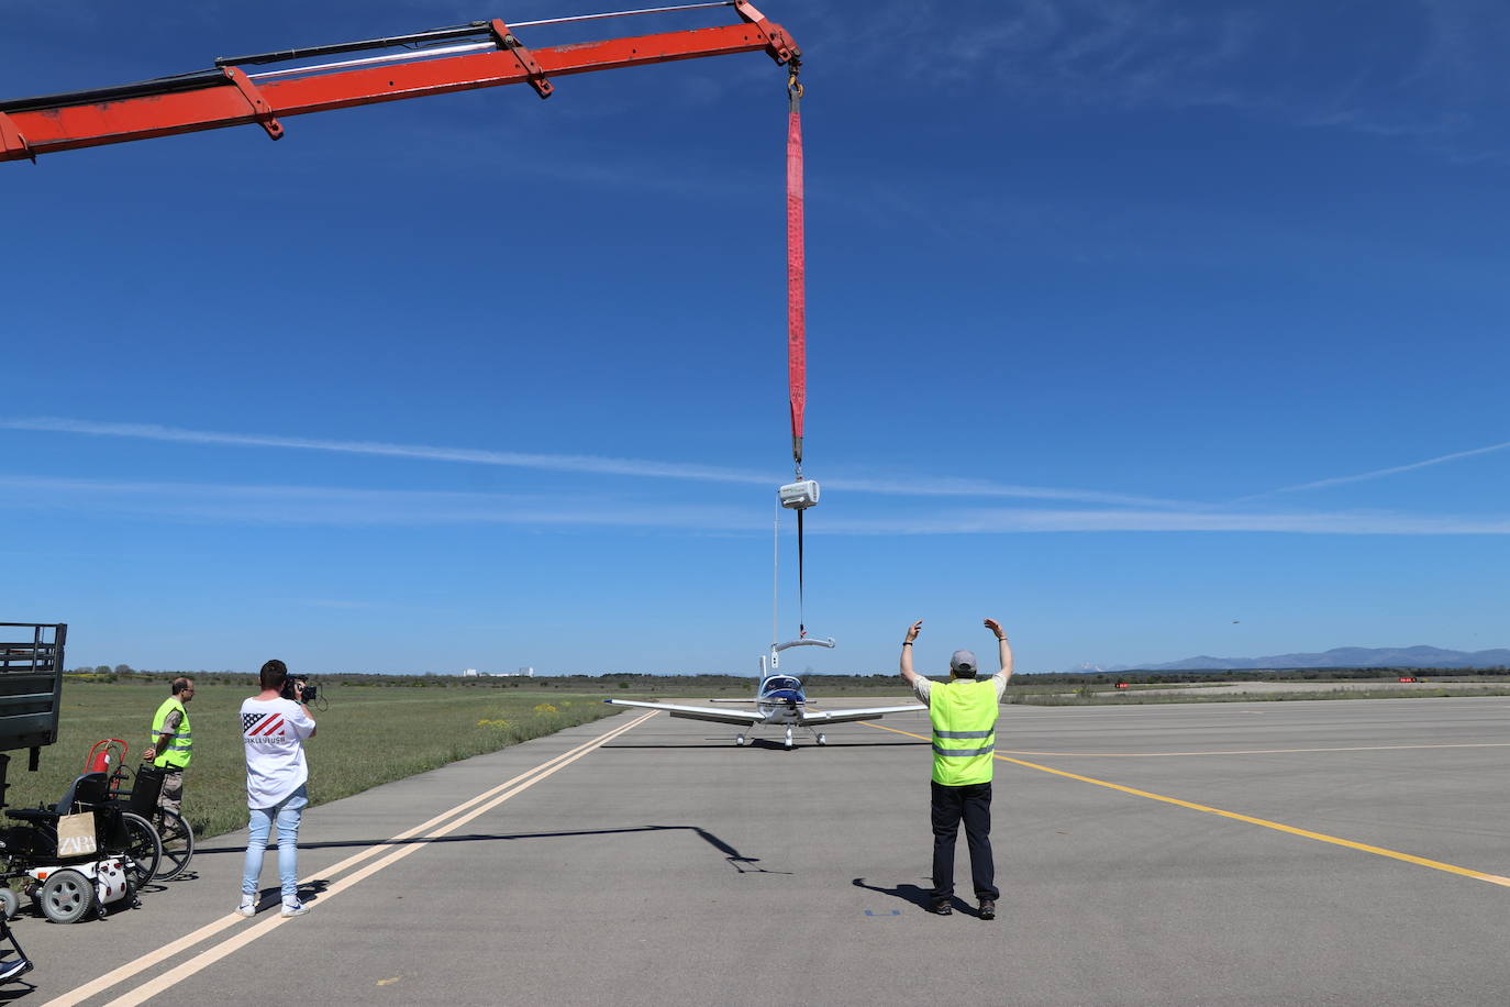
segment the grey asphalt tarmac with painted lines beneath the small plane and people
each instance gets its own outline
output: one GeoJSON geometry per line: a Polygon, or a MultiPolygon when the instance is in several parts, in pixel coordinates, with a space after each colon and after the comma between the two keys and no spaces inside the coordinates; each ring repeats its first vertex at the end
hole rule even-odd
{"type": "Polygon", "coordinates": [[[963,838],[963,898],[924,909],[924,716],[785,752],[627,711],[310,811],[308,916],[278,916],[273,856],[231,913],[245,833],[140,909],[23,915],[38,968],[0,998],[1499,1005],[1507,723],[1502,698],[1004,707],[983,921],[963,838]]]}

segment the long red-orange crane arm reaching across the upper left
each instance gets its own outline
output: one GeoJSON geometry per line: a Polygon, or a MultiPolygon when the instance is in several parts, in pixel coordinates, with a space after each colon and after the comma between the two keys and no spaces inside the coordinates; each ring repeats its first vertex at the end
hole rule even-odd
{"type": "MultiPolygon", "coordinates": [[[[257,124],[276,140],[282,137],[281,119],[294,115],[518,83],[528,83],[536,94],[548,98],[551,77],[704,56],[764,51],[778,63],[796,66],[800,62],[802,50],[785,29],[746,0],[621,14],[716,6],[734,8],[740,23],[532,50],[503,21],[473,21],[382,39],[225,57],[214,60],[213,69],[134,85],[0,101],[0,162],[35,162],[38,154],[228,125],[257,124]],[[248,71],[248,66],[266,63],[400,47],[412,51],[267,72],[248,71]],[[424,47],[435,51],[426,53],[424,47]]],[[[619,15],[559,18],[528,26],[599,17],[619,15]]]]}

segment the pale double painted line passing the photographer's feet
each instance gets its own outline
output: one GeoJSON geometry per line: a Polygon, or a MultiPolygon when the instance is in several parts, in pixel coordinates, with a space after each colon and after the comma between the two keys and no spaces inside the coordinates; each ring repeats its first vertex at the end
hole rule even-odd
{"type": "MultiPolygon", "coordinates": [[[[515,776],[515,778],[512,778],[512,779],[509,779],[509,781],[506,781],[503,784],[498,784],[492,790],[483,791],[482,794],[477,794],[476,797],[471,797],[471,799],[468,799],[468,800],[456,805],[455,808],[442,811],[441,814],[435,815],[429,821],[424,821],[423,824],[418,824],[418,826],[409,829],[408,832],[400,832],[399,835],[393,836],[391,839],[387,839],[385,842],[379,842],[379,844],[370,845],[365,850],[361,850],[359,853],[355,853],[355,855],[346,858],[340,864],[335,864],[334,867],[329,867],[329,868],[320,871],[319,877],[322,877],[322,879],[325,879],[325,877],[334,877],[334,876],[337,876],[337,874],[340,874],[340,873],[343,873],[343,871],[355,867],[356,864],[361,864],[362,861],[371,859],[371,858],[374,858],[374,856],[378,856],[378,855],[381,855],[381,853],[384,853],[387,850],[394,850],[396,844],[403,842],[406,839],[412,839],[414,836],[421,836],[423,835],[424,839],[433,839],[433,838],[438,838],[438,836],[444,836],[448,832],[453,832],[455,829],[467,824],[468,821],[471,821],[477,815],[482,815],[483,812],[491,811],[492,808],[495,808],[495,806],[501,805],[503,802],[509,800],[516,793],[519,793],[522,790],[527,790],[528,787],[533,787],[535,784],[538,784],[539,781],[545,779],[547,776],[550,776],[551,773],[554,773],[556,770],[568,765],[569,762],[575,762],[583,755],[587,755],[590,750],[593,750],[593,749],[596,749],[596,747],[599,747],[599,746],[612,741],[613,738],[619,737],[625,731],[630,731],[631,728],[639,726],[640,723],[649,720],[654,716],[655,716],[654,711],[652,713],[646,713],[642,717],[636,717],[630,723],[619,725],[618,728],[613,728],[612,731],[607,731],[607,732],[598,735],[596,738],[592,738],[590,741],[584,741],[583,744],[577,746],[575,749],[571,749],[569,752],[563,752],[563,753],[560,753],[560,755],[557,755],[557,756],[554,756],[551,759],[547,759],[545,762],[541,762],[539,765],[536,765],[536,767],[533,767],[530,770],[525,770],[524,773],[519,773],[518,776],[515,776]],[[494,797],[494,794],[500,794],[500,796],[494,797]],[[489,797],[494,797],[494,799],[489,800],[489,797]],[[482,808],[476,808],[476,811],[473,811],[471,814],[468,814],[468,815],[465,815],[462,818],[458,818],[456,821],[451,821],[444,829],[435,829],[435,826],[441,824],[442,821],[445,821],[451,815],[459,814],[462,811],[467,811],[468,808],[474,808],[476,805],[483,803],[483,802],[488,802],[488,803],[485,806],[482,806],[482,808]],[[435,830],[429,832],[430,829],[435,829],[435,830]]],[[[341,882],[338,882],[338,883],[329,886],[328,889],[325,889],[320,894],[320,900],[323,901],[323,900],[329,898],[331,895],[334,895],[335,892],[340,892],[340,891],[349,888],[350,885],[355,885],[356,882],[359,882],[359,880],[362,880],[362,879],[374,874],[376,871],[382,870],[384,867],[388,867],[390,864],[402,859],[403,856],[408,856],[409,853],[414,853],[421,845],[424,845],[424,844],[423,842],[417,842],[417,844],[409,844],[409,845],[397,847],[397,851],[394,855],[390,855],[388,858],[384,858],[378,864],[373,864],[373,865],[364,868],[358,874],[353,874],[352,877],[343,879],[341,882]]],[[[305,883],[308,883],[311,880],[314,880],[314,879],[305,879],[305,883]]],[[[137,989],[130,990],[130,992],[121,995],[119,998],[110,1001],[110,1004],[112,1005],[113,1004],[140,1004],[148,996],[154,996],[156,993],[160,993],[160,992],[163,992],[163,989],[166,989],[166,986],[162,986],[162,980],[165,980],[168,977],[172,977],[172,981],[180,981],[181,978],[184,978],[187,975],[192,975],[193,972],[198,972],[205,965],[217,962],[219,959],[225,957],[231,951],[234,951],[234,950],[237,950],[240,947],[245,947],[246,944],[251,944],[257,938],[263,936],[263,933],[266,933],[266,932],[272,930],[273,927],[276,927],[279,924],[284,924],[284,922],[288,922],[288,921],[284,919],[282,916],[272,916],[272,918],[263,921],[261,924],[251,925],[248,930],[243,930],[240,935],[237,935],[236,938],[231,938],[225,944],[217,945],[216,948],[210,948],[210,950],[201,953],[199,956],[190,959],[184,965],[180,965],[178,968],[172,969],[171,972],[166,972],[165,975],[159,977],[159,980],[154,980],[153,983],[148,983],[145,986],[139,986],[137,989]],[[222,948],[225,948],[225,950],[222,951],[222,948]],[[202,963],[199,963],[196,968],[189,968],[189,966],[195,965],[196,962],[201,962],[201,959],[204,959],[202,963]]],[[[187,951],[189,948],[195,947],[196,944],[201,944],[201,942],[213,938],[214,935],[220,933],[226,927],[234,927],[236,924],[243,924],[245,925],[246,919],[243,916],[236,915],[236,913],[230,913],[226,916],[222,916],[220,919],[216,919],[214,922],[205,924],[204,927],[199,927],[198,930],[195,930],[192,933],[187,933],[183,938],[178,938],[177,941],[174,941],[171,944],[166,944],[162,948],[157,948],[156,951],[153,951],[149,954],[145,954],[140,959],[136,959],[134,962],[130,962],[128,965],[122,965],[121,968],[113,969],[110,972],[106,972],[104,975],[101,975],[101,977],[98,977],[95,980],[91,980],[89,983],[85,983],[83,986],[79,986],[76,989],[68,990],[62,996],[56,996],[56,998],[47,1001],[45,1004],[42,1004],[42,1007],[74,1007],[76,1004],[82,1004],[83,1001],[89,999],[91,996],[95,996],[97,993],[101,993],[101,992],[110,989],[112,986],[124,983],[125,980],[128,980],[133,975],[137,975],[140,972],[145,972],[146,969],[156,968],[156,966],[162,965],[163,962],[166,962],[168,959],[174,957],[175,954],[187,951]]]]}

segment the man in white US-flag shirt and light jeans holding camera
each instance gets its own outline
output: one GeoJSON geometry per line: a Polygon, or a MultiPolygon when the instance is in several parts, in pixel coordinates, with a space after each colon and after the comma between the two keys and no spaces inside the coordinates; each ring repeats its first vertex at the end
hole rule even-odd
{"type": "Polygon", "coordinates": [[[299,821],[310,803],[310,767],[304,743],[314,737],[314,714],[304,702],[304,678],[288,675],[288,666],[263,664],[263,691],[242,702],[242,744],[246,750],[246,806],[251,835],[242,867],[242,903],[236,912],[257,915],[258,880],[267,835],[278,823],[278,876],[282,882],[282,915],[302,916],[310,907],[299,901],[299,821]]]}

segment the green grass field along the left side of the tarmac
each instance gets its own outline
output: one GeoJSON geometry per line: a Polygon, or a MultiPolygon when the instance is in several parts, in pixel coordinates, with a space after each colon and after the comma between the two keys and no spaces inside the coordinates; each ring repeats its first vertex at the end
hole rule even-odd
{"type": "MultiPolygon", "coordinates": [[[[246,824],[246,764],[237,711],[257,690],[205,678],[195,685],[184,817],[198,835],[219,835],[246,824]]],[[[602,704],[606,693],[559,688],[405,688],[365,682],[325,682],[320,688],[329,708],[316,711],[319,734],[307,749],[311,803],[349,797],[622,710],[602,704]]],[[[162,681],[65,679],[57,744],[42,749],[36,773],[26,771],[26,752],[11,753],[6,803],[53,806],[83,771],[89,746],[101,738],[124,738],[130,744],[127,765],[134,768],[148,746],[153,713],[168,694],[162,681]]]]}

